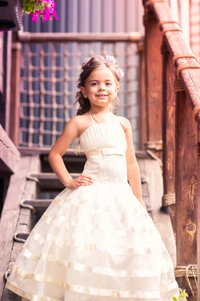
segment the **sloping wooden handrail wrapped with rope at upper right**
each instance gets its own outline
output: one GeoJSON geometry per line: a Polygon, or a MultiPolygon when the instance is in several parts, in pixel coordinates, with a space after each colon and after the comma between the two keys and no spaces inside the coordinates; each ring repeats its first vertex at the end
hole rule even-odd
{"type": "MultiPolygon", "coordinates": [[[[151,3],[151,2],[149,2],[151,3]]],[[[175,21],[173,20],[171,9],[168,3],[163,2],[152,2],[150,9],[157,19],[158,23],[162,21],[175,21]]],[[[164,33],[164,42],[168,48],[171,57],[177,54],[185,53],[192,54],[190,47],[186,44],[184,37],[180,31],[170,31],[179,30],[180,27],[176,23],[163,23],[160,25],[161,32],[164,33]],[[169,29],[169,31],[166,31],[169,29]]],[[[196,64],[194,58],[179,58],[175,61],[175,68],[181,64],[196,64]]],[[[195,105],[200,105],[199,91],[200,91],[200,69],[184,69],[180,72],[180,80],[185,89],[186,95],[190,101],[191,108],[193,109],[195,105]]],[[[200,112],[196,115],[196,122],[200,126],[200,112]]]]}

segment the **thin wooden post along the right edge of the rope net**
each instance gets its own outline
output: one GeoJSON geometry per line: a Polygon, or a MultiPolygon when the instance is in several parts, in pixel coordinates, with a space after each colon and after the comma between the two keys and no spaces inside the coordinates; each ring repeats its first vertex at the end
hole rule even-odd
{"type": "Polygon", "coordinates": [[[146,124],[146,90],[145,90],[145,54],[144,41],[137,43],[139,53],[139,112],[140,112],[140,149],[145,150],[147,141],[147,124],[146,124]]]}

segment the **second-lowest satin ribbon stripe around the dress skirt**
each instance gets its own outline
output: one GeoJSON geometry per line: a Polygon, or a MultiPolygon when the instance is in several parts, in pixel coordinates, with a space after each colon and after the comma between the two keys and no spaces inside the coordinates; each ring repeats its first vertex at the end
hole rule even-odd
{"type": "MultiPolygon", "coordinates": [[[[61,267],[66,267],[70,269],[74,269],[77,271],[82,271],[82,272],[90,272],[90,273],[95,273],[95,274],[101,274],[101,275],[108,275],[108,276],[116,276],[116,277],[157,277],[160,275],[160,270],[157,271],[152,271],[151,269],[144,270],[144,269],[134,269],[134,270],[120,270],[120,269],[112,269],[112,268],[107,268],[107,267],[101,267],[101,266],[90,266],[90,265],[85,265],[77,262],[71,262],[68,260],[56,260],[53,255],[50,254],[43,254],[38,256],[33,256],[32,254],[26,252],[25,249],[22,250],[21,253],[24,253],[25,257],[29,259],[30,261],[35,261],[38,262],[39,260],[42,261],[48,261],[52,263],[53,265],[61,266],[61,267]],[[33,257],[35,257],[35,260],[32,260],[33,257]]],[[[13,266],[11,273],[15,273],[16,269],[18,267],[13,266]]],[[[54,268],[54,267],[52,267],[54,268]]],[[[169,271],[172,271],[170,265],[167,266],[166,270],[162,271],[163,274],[168,273],[169,271]]]]}

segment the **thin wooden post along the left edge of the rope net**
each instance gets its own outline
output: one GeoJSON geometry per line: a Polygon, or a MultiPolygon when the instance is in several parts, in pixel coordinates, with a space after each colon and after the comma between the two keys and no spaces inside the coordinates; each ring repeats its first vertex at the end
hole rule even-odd
{"type": "Polygon", "coordinates": [[[10,122],[9,137],[18,145],[19,103],[20,103],[20,53],[21,43],[17,42],[17,33],[12,35],[11,82],[10,82],[10,122]]]}

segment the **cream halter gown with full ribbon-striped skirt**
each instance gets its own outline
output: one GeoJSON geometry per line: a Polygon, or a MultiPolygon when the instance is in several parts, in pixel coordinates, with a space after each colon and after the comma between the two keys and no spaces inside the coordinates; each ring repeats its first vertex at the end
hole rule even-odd
{"type": "Polygon", "coordinates": [[[32,301],[172,301],[179,290],[171,258],[127,183],[123,128],[114,115],[91,120],[80,144],[82,174],[94,183],[52,201],[5,286],[32,301]]]}

